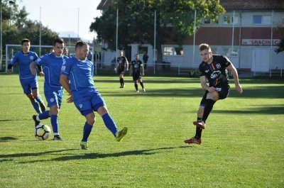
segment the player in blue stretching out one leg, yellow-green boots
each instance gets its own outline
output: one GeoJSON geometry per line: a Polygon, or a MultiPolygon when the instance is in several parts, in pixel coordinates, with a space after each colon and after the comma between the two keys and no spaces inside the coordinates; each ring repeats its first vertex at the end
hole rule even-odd
{"type": "Polygon", "coordinates": [[[92,131],[96,117],[94,111],[102,116],[105,126],[120,141],[127,133],[127,128],[118,131],[116,123],[111,118],[107,106],[99,91],[94,86],[94,64],[87,60],[89,45],[85,42],[77,42],[75,45],[75,57],[70,57],[62,65],[60,83],[71,95],[67,102],[74,101],[75,106],[82,116],[85,116],[83,138],[81,148],[88,150],[88,138],[92,131]]]}

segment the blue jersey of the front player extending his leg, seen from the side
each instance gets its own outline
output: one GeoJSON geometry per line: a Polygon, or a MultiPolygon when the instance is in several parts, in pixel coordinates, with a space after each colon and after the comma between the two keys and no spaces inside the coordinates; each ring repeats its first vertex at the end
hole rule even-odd
{"type": "Polygon", "coordinates": [[[89,60],[77,60],[76,57],[70,57],[63,65],[61,74],[64,74],[70,80],[70,89],[72,92],[84,89],[96,89],[94,86],[94,64],[89,60]]]}

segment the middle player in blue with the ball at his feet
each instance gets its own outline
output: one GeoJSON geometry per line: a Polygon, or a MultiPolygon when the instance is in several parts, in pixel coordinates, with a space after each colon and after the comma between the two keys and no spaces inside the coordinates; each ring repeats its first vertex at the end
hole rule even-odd
{"type": "Polygon", "coordinates": [[[63,62],[68,58],[62,55],[64,41],[62,38],[56,38],[53,42],[53,52],[43,55],[31,63],[31,72],[35,74],[36,65],[44,65],[43,72],[45,74],[44,93],[45,99],[48,101],[49,111],[43,114],[33,116],[35,126],[40,123],[40,120],[50,117],[50,123],[53,127],[53,140],[63,140],[60,137],[58,126],[58,113],[62,103],[62,86],[60,84],[60,74],[63,62]]]}

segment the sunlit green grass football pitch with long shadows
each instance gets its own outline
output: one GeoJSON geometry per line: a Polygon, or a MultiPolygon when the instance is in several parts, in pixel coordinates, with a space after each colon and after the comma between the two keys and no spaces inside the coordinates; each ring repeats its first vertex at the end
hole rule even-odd
{"type": "MultiPolygon", "coordinates": [[[[183,143],[195,135],[198,78],[144,77],[146,93],[125,79],[119,89],[118,77],[94,77],[128,134],[117,143],[97,116],[90,150],[81,150],[84,117],[74,104],[64,101],[60,111],[65,141],[37,140],[18,75],[0,74],[0,187],[284,187],[283,79],[241,79],[241,96],[231,83],[202,145],[183,143]]],[[[43,96],[43,77],[39,84],[43,96]]]]}

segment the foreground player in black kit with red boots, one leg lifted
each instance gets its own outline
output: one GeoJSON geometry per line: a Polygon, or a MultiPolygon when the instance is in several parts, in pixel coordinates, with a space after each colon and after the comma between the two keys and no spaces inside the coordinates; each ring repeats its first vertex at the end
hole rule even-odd
{"type": "Polygon", "coordinates": [[[230,70],[236,87],[236,91],[241,94],[243,89],[239,84],[239,76],[236,68],[231,61],[224,55],[212,55],[211,48],[208,44],[200,45],[200,55],[202,62],[200,64],[200,83],[205,89],[204,96],[200,102],[200,109],[197,111],[197,121],[193,124],[196,126],[195,136],[185,140],[185,143],[201,144],[202,129],[205,128],[205,122],[212,111],[214,103],[219,99],[226,99],[229,94],[229,76],[230,70]],[[208,79],[209,85],[206,82],[208,79]]]}

